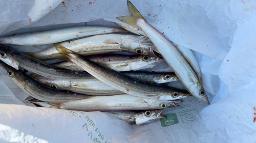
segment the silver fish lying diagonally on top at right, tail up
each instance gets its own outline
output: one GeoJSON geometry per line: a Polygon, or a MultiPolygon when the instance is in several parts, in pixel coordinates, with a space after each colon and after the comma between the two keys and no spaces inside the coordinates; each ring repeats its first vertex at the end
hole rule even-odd
{"type": "Polygon", "coordinates": [[[167,64],[173,68],[186,90],[196,98],[203,100],[206,104],[210,104],[196,73],[176,46],[149,24],[130,1],[127,1],[127,6],[131,16],[117,17],[117,19],[126,24],[138,27],[143,31],[163,56],[167,64]]]}

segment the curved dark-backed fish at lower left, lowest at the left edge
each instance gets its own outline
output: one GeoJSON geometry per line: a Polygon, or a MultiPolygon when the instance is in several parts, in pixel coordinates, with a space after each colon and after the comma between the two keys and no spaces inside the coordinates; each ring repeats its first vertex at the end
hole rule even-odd
{"type": "Polygon", "coordinates": [[[38,81],[30,78],[25,73],[18,71],[6,63],[0,61],[0,67],[6,70],[11,79],[28,95],[51,103],[60,103],[64,101],[72,101],[79,99],[86,99],[88,95],[77,94],[73,92],[59,91],[45,85],[42,85],[38,81]]]}

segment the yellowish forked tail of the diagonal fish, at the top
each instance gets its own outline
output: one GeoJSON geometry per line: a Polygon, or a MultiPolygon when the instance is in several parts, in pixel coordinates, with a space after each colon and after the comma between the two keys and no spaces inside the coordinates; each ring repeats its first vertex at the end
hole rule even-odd
{"type": "Polygon", "coordinates": [[[135,6],[130,1],[127,1],[127,6],[128,6],[128,9],[129,9],[131,15],[116,17],[118,20],[120,20],[126,24],[132,25],[134,27],[137,27],[136,21],[138,18],[142,18],[146,21],[146,19],[140,14],[140,12],[135,8],[135,6]]]}

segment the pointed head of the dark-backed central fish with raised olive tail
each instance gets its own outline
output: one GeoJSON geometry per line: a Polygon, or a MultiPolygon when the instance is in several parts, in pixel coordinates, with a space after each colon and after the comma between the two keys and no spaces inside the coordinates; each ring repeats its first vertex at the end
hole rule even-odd
{"type": "Polygon", "coordinates": [[[190,96],[192,95],[185,91],[162,92],[161,95],[159,95],[159,100],[177,100],[190,96]]]}

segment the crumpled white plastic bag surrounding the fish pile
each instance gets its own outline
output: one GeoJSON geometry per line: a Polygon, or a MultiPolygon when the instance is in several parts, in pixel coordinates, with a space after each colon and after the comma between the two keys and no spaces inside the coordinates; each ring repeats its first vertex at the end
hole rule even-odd
{"type": "MultiPolygon", "coordinates": [[[[119,22],[115,17],[130,15],[126,1],[19,2],[13,0],[1,4],[2,36],[81,25],[117,27],[109,21],[119,22]],[[44,14],[38,12],[42,7],[44,14]],[[33,24],[29,23],[31,18],[33,24]]],[[[163,113],[167,119],[132,126],[101,112],[26,106],[22,101],[28,95],[0,69],[1,142],[256,140],[256,2],[131,2],[169,40],[194,50],[211,105],[189,97],[184,99],[180,107],[165,109],[163,113]]],[[[50,45],[42,47],[47,46],[50,45]]],[[[14,48],[39,50],[25,46],[14,48]]]]}

